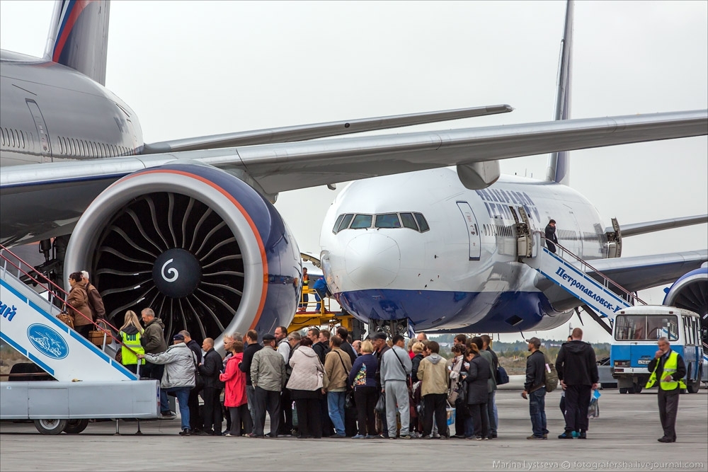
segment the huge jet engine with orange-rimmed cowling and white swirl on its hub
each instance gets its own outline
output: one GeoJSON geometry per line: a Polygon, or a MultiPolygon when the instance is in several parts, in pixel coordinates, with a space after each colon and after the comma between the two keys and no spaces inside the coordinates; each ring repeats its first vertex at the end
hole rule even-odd
{"type": "Polygon", "coordinates": [[[150,307],[168,339],[273,333],[301,290],[299,248],[273,205],[233,175],[199,163],[118,180],[86,209],[64,273],[89,270],[106,316],[150,307]]]}

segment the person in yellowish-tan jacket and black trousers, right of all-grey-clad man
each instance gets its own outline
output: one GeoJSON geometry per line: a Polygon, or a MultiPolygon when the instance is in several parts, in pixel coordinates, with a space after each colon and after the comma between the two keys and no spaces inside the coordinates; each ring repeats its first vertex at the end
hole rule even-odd
{"type": "Polygon", "coordinates": [[[433,435],[433,417],[438,426],[440,439],[449,439],[447,430],[447,386],[449,376],[445,359],[440,357],[440,345],[430,341],[426,346],[429,353],[418,366],[418,379],[421,380],[421,397],[425,405],[423,416],[423,439],[430,439],[433,435]]]}

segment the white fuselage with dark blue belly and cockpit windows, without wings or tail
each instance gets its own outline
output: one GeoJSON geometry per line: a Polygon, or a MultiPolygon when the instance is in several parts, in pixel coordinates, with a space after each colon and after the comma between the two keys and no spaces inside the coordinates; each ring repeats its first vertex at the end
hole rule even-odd
{"type": "Polygon", "coordinates": [[[518,262],[519,207],[534,231],[555,219],[559,243],[581,258],[607,257],[600,215],[566,185],[503,175],[490,188],[467,190],[442,168],[359,180],[338,195],[321,233],[330,289],[361,319],[408,318],[416,330],[560,326],[571,313],[556,311],[537,272],[518,262]],[[354,216],[344,225],[347,215],[354,216]],[[389,227],[376,227],[377,215],[378,226],[389,227]]]}

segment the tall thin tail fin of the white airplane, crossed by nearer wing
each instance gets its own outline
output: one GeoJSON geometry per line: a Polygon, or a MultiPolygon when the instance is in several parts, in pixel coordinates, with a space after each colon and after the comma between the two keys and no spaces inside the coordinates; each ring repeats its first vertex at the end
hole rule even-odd
{"type": "MultiPolygon", "coordinates": [[[[558,64],[558,84],[554,120],[568,120],[571,115],[571,64],[573,50],[573,1],[566,6],[566,23],[561,40],[561,54],[558,64]]],[[[548,157],[546,180],[564,185],[570,184],[569,151],[554,152],[548,157]]]]}

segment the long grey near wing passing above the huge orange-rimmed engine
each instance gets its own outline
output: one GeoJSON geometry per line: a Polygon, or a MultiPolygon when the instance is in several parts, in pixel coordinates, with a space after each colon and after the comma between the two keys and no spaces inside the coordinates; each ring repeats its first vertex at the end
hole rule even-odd
{"type": "Polygon", "coordinates": [[[222,168],[274,195],[378,175],[705,134],[708,110],[697,110],[5,167],[0,173],[5,209],[0,239],[18,241],[30,234],[36,239],[50,230],[56,234],[57,227],[68,228],[118,178],[174,161],[222,168]],[[51,220],[42,221],[38,212],[51,220]]]}

